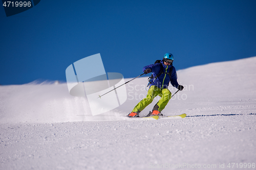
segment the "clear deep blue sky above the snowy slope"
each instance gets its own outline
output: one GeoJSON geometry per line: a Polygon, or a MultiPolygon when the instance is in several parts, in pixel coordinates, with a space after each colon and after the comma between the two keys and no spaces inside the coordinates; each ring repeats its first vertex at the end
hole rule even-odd
{"type": "Polygon", "coordinates": [[[70,64],[98,53],[106,72],[124,78],[165,53],[177,70],[253,57],[255,9],[256,1],[246,0],[44,0],[6,17],[1,7],[0,84],[64,82],[70,64]]]}

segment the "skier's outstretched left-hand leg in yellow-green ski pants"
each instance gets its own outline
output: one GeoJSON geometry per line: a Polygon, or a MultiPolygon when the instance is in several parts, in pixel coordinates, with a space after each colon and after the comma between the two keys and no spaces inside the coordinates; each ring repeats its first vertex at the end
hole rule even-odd
{"type": "Polygon", "coordinates": [[[151,86],[150,89],[147,91],[147,95],[146,98],[142,99],[133,109],[132,112],[136,112],[139,113],[141,112],[143,109],[145,109],[145,107],[149,104],[152,103],[152,101],[154,100],[154,98],[158,95],[158,93],[161,93],[160,88],[158,88],[157,86],[151,86]]]}

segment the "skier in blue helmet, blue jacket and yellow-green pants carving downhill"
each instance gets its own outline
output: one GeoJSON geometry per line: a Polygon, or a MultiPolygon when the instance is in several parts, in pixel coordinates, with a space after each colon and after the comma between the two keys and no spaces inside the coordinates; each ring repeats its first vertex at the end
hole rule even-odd
{"type": "Polygon", "coordinates": [[[180,91],[184,88],[177,82],[177,74],[175,67],[173,66],[173,61],[174,56],[170,53],[166,53],[161,62],[143,67],[145,74],[153,72],[150,89],[147,91],[146,98],[141,100],[134,107],[132,112],[127,115],[128,117],[139,117],[139,113],[145,109],[147,105],[151,104],[157,95],[159,95],[161,99],[154,106],[150,114],[159,116],[163,115],[161,111],[165,108],[172,97],[172,93],[168,89],[169,82],[180,91]]]}

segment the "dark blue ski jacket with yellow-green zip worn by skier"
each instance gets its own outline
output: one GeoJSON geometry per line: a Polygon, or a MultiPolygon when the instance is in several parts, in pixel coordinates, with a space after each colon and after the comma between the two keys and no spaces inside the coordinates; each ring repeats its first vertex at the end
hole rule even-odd
{"type": "Polygon", "coordinates": [[[171,65],[164,65],[163,64],[163,60],[160,63],[156,63],[156,64],[151,64],[151,65],[147,65],[145,67],[143,67],[143,72],[145,69],[150,68],[151,71],[153,72],[153,82],[150,84],[150,86],[157,86],[160,89],[163,88],[168,88],[169,82],[174,86],[174,87],[178,87],[179,83],[177,82],[177,73],[176,73],[176,69],[173,66],[173,64],[171,65]],[[163,66],[163,72],[169,72],[170,68],[173,67],[173,71],[171,74],[171,78],[169,77],[168,74],[161,74],[158,78],[155,78],[159,72],[161,71],[161,65],[163,66]]]}

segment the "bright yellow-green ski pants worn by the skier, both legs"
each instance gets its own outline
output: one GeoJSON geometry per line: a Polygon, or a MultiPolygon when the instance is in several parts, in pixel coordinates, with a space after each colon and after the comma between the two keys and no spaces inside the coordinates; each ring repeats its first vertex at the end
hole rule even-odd
{"type": "Polygon", "coordinates": [[[154,98],[159,95],[161,99],[157,102],[153,110],[158,110],[161,112],[167,103],[169,102],[170,98],[172,98],[172,93],[169,91],[169,89],[164,88],[160,89],[157,86],[151,86],[150,89],[147,91],[146,98],[142,99],[133,109],[132,112],[141,112],[145,107],[149,104],[151,104],[154,100],[154,98]]]}

